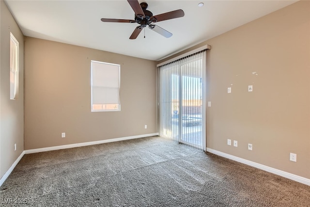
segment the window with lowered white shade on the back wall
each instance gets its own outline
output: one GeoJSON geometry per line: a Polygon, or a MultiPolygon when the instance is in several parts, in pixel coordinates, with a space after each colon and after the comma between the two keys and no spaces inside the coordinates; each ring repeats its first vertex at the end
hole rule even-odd
{"type": "Polygon", "coordinates": [[[121,111],[119,64],[91,62],[92,111],[121,111]]]}

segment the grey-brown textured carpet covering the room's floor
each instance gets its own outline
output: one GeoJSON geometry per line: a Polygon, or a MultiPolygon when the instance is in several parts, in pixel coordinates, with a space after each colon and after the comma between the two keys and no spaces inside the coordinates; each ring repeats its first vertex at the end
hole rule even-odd
{"type": "Polygon", "coordinates": [[[310,186],[160,137],[27,154],[0,206],[310,207],[310,186]]]}

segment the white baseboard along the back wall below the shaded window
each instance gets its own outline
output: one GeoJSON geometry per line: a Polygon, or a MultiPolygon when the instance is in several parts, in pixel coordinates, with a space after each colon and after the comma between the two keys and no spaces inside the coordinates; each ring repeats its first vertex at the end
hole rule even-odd
{"type": "Polygon", "coordinates": [[[28,149],[28,150],[25,150],[24,152],[25,154],[31,154],[31,153],[37,153],[37,152],[46,152],[46,151],[52,151],[52,150],[67,149],[67,148],[88,146],[88,145],[101,144],[101,143],[111,143],[111,142],[131,140],[131,139],[137,139],[137,138],[143,138],[143,137],[152,137],[152,136],[158,136],[158,133],[142,134],[142,135],[136,135],[136,136],[130,136],[130,137],[114,138],[114,139],[109,139],[109,140],[99,140],[99,141],[87,142],[87,143],[75,143],[75,144],[66,144],[66,145],[60,145],[60,146],[44,147],[44,148],[38,148],[38,149],[28,149]]]}

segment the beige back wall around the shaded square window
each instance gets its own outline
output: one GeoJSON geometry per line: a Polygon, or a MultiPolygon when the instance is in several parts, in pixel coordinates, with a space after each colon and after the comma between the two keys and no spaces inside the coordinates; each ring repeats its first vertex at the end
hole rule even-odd
{"type": "Polygon", "coordinates": [[[25,37],[25,149],[156,133],[156,123],[154,61],[25,37]],[[91,60],[121,65],[121,111],[91,112],[91,60]]]}

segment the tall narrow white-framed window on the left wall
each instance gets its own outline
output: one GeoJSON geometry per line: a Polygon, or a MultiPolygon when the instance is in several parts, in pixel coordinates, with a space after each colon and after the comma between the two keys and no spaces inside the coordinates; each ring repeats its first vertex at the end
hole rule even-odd
{"type": "Polygon", "coordinates": [[[11,33],[10,40],[10,99],[18,98],[18,54],[19,43],[11,33]]]}

